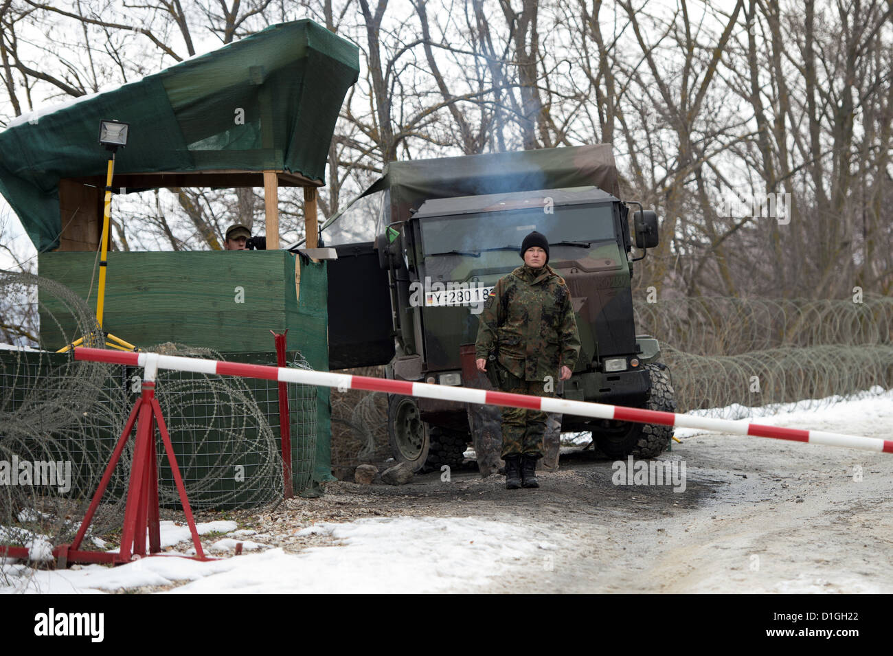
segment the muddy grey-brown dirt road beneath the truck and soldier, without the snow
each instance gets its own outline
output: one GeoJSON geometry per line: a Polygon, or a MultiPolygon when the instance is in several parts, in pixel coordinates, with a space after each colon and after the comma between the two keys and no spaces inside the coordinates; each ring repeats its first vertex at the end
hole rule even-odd
{"type": "Polygon", "coordinates": [[[893,592],[893,456],[703,435],[663,460],[685,463],[684,491],[614,485],[619,468],[583,451],[564,454],[538,490],[505,490],[503,477],[472,469],[405,486],[338,482],[255,527],[287,551],[327,539],[295,527],[381,516],[497,519],[547,542],[541,558],[476,592],[893,592]]]}

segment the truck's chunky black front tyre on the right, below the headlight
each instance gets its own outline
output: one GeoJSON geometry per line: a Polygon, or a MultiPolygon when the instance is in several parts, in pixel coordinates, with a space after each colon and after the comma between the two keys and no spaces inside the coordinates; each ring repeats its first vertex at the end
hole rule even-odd
{"type": "MultiPolygon", "coordinates": [[[[647,410],[675,412],[675,392],[672,388],[670,371],[659,362],[645,365],[651,378],[651,392],[646,404],[647,410]]],[[[593,434],[596,445],[609,458],[656,458],[670,445],[672,426],[660,424],[638,424],[617,422],[616,428],[593,434]]]]}

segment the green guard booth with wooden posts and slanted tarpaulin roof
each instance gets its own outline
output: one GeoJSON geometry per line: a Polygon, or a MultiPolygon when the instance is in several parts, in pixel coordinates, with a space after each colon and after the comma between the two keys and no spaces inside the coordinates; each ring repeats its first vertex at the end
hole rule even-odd
{"type": "MultiPolygon", "coordinates": [[[[97,133],[101,120],[118,120],[129,140],[115,155],[113,194],[263,187],[267,250],[108,253],[104,330],[141,349],[172,342],[271,364],[271,331],[288,330],[289,359],[328,370],[327,263],[309,249],[332,133],[358,73],[355,45],[293,21],[13,121],[0,133],[0,193],[38,248],[39,275],[95,306],[109,159],[97,133]],[[307,256],[279,250],[280,187],[304,189],[307,256]]],[[[41,348],[64,346],[73,328],[48,320],[63,308],[40,303],[41,348]]],[[[330,479],[329,409],[318,388],[312,467],[296,491],[330,479]]],[[[278,415],[269,419],[276,433],[278,415]]]]}

